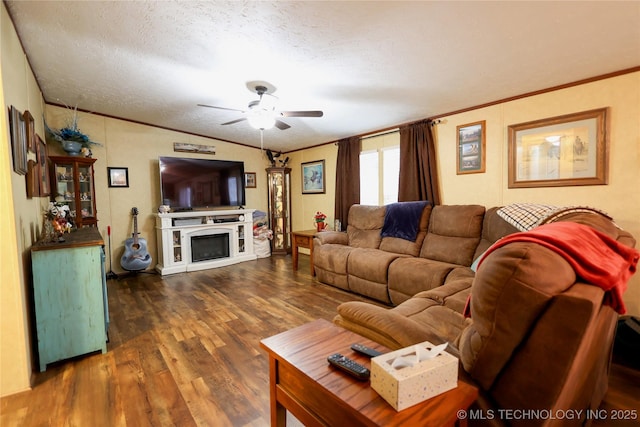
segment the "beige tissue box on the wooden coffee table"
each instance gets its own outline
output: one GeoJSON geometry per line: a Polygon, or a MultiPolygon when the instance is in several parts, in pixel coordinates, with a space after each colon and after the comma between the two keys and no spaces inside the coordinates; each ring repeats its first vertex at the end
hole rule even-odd
{"type": "Polygon", "coordinates": [[[392,367],[393,361],[398,357],[415,359],[417,346],[426,350],[434,347],[425,341],[371,359],[371,388],[396,411],[430,399],[458,385],[458,359],[445,351],[413,366],[392,367]]]}

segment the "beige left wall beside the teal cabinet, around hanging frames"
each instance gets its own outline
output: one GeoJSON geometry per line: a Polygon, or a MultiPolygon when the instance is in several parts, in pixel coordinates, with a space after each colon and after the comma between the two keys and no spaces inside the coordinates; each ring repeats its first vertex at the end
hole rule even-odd
{"type": "MultiPolygon", "coordinates": [[[[29,248],[37,240],[45,198],[28,199],[24,175],[13,172],[8,108],[29,110],[42,117],[43,103],[35,77],[20,45],[4,3],[0,8],[2,68],[2,134],[0,135],[0,395],[30,387],[31,347],[27,301],[30,281],[29,248]]],[[[42,120],[36,132],[43,135],[42,120]]],[[[29,159],[35,154],[28,153],[29,159]]]]}

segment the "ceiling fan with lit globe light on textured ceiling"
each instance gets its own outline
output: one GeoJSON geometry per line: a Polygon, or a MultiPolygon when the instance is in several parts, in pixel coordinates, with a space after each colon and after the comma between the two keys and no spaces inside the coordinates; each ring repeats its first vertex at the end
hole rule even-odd
{"type": "Polygon", "coordinates": [[[218,110],[238,111],[243,113],[245,117],[222,123],[222,125],[232,125],[244,120],[248,120],[251,127],[256,129],[270,129],[273,126],[280,130],[289,129],[291,126],[279,119],[279,117],[322,117],[323,112],[314,111],[279,111],[276,109],[278,98],[273,95],[276,91],[275,86],[263,82],[248,82],[247,88],[258,94],[259,98],[249,102],[246,110],[238,110],[235,108],[216,107],[214,105],[198,104],[200,107],[216,108],[218,110]]]}

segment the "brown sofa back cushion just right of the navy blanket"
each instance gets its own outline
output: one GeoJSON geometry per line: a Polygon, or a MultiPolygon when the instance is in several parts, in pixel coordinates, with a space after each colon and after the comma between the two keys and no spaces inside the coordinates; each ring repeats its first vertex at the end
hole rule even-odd
{"type": "Polygon", "coordinates": [[[469,267],[480,242],[484,211],[480,205],[434,207],[420,257],[469,267]]]}

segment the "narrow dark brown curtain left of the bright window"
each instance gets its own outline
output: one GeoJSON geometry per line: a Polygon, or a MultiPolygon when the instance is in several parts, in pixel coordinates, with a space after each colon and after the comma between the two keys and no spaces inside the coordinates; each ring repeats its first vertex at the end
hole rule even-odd
{"type": "Polygon", "coordinates": [[[349,208],[360,203],[360,138],[352,136],[338,141],[336,163],[335,218],[347,229],[349,208]]]}

